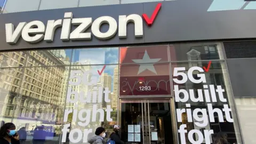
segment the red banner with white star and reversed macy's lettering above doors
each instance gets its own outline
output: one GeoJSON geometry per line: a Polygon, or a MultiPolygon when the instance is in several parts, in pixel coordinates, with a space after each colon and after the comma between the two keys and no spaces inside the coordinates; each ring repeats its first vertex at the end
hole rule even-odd
{"type": "Polygon", "coordinates": [[[122,47],[120,55],[120,95],[171,94],[166,45],[122,47]]]}

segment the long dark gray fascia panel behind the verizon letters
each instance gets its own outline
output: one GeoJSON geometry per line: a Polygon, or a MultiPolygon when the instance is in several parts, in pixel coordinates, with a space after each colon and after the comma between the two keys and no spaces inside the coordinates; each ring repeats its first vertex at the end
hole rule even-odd
{"type": "MultiPolygon", "coordinates": [[[[55,32],[54,42],[52,43],[40,42],[29,44],[20,38],[17,44],[10,45],[5,41],[5,23],[11,22],[15,26],[19,22],[30,22],[33,20],[40,20],[46,23],[47,20],[63,19],[65,12],[73,12],[75,18],[92,17],[94,20],[107,15],[118,21],[118,15],[134,13],[140,15],[147,13],[151,17],[157,3],[118,4],[1,14],[0,50],[256,37],[256,10],[207,12],[212,0],[179,0],[162,2],[162,9],[159,11],[153,26],[149,28],[144,22],[143,38],[134,38],[134,26],[129,24],[126,39],[119,39],[116,35],[107,41],[101,41],[92,37],[90,41],[62,42],[60,40],[60,29],[58,29],[55,32]]],[[[104,31],[107,27],[102,29],[104,31]]]]}

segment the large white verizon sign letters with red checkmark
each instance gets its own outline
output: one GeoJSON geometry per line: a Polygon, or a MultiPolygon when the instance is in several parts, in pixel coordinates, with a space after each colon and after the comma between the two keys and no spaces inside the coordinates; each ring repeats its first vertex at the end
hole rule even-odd
{"type": "MultiPolygon", "coordinates": [[[[148,26],[151,26],[160,7],[159,3],[149,19],[146,14],[142,14],[143,19],[147,22],[148,26]]],[[[13,23],[5,24],[6,43],[15,44],[20,37],[28,43],[38,43],[41,41],[53,42],[55,30],[61,28],[60,39],[62,41],[81,41],[90,40],[92,35],[98,39],[107,40],[116,35],[118,31],[119,38],[126,38],[127,23],[134,23],[134,36],[143,37],[143,22],[141,15],[119,15],[117,21],[109,16],[99,17],[95,20],[92,18],[73,18],[72,12],[66,12],[64,18],[58,20],[48,20],[45,26],[42,21],[20,22],[16,28],[13,23]],[[108,30],[105,33],[100,31],[100,27],[103,23],[109,25],[108,30]],[[77,26],[73,31],[72,26],[77,26]],[[85,32],[91,29],[91,32],[85,32]]]]}

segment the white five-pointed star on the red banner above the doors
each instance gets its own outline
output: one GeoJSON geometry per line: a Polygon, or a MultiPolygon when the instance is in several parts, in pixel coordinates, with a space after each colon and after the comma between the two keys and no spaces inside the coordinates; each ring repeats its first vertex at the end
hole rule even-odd
{"type": "Polygon", "coordinates": [[[137,75],[139,75],[140,73],[142,73],[142,71],[144,71],[146,69],[152,71],[153,73],[155,73],[157,75],[156,69],[154,67],[154,62],[157,62],[159,60],[161,60],[161,59],[150,59],[147,50],[145,50],[145,53],[144,53],[142,59],[133,59],[132,61],[135,63],[148,63],[148,64],[139,64],[140,68],[139,68],[137,75]]]}

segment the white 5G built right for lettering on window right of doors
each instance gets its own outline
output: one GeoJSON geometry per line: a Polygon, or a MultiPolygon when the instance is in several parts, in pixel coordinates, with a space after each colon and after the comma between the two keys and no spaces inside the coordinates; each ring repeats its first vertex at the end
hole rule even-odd
{"type": "MultiPolygon", "coordinates": [[[[209,66],[208,66],[209,67],[209,66]]],[[[185,84],[189,79],[192,83],[200,83],[203,86],[203,89],[179,89],[180,85],[174,84],[174,96],[176,102],[206,102],[207,108],[190,108],[190,104],[186,103],[186,108],[178,108],[176,109],[177,120],[178,122],[193,122],[196,125],[194,130],[190,130],[187,132],[185,128],[186,124],[182,124],[179,127],[178,132],[180,133],[180,139],[182,144],[186,144],[186,134],[188,133],[189,143],[212,143],[211,134],[214,134],[213,130],[210,129],[209,123],[215,123],[216,118],[219,118],[219,123],[229,122],[233,123],[234,119],[231,118],[231,108],[227,104],[223,105],[223,108],[215,108],[213,107],[213,102],[227,102],[227,99],[224,97],[221,85],[217,85],[217,89],[215,90],[214,85],[203,85],[206,83],[205,74],[197,74],[202,73],[204,70],[200,67],[191,67],[188,69],[186,73],[185,67],[174,68],[173,72],[173,81],[177,84],[185,84]],[[197,72],[197,71],[199,72],[197,72]],[[196,76],[196,77],[195,77],[196,76]],[[195,92],[197,91],[197,92],[195,92]],[[219,97],[217,100],[216,93],[218,93],[219,97]],[[184,97],[182,97],[184,95],[184,97]],[[197,96],[197,97],[196,97],[197,96]],[[193,111],[193,112],[191,112],[193,111]],[[223,115],[223,112],[225,116],[223,115]],[[209,115],[209,116],[208,116],[209,115]],[[185,117],[186,118],[185,118],[185,117]],[[210,122],[209,122],[210,121],[210,122]],[[203,127],[206,130],[200,128],[203,127]]],[[[186,86],[187,87],[187,86],[186,86]]],[[[193,103],[196,106],[196,103],[193,103]]],[[[180,104],[179,104],[180,105],[180,104]]],[[[181,104],[182,105],[182,104],[181,104]]],[[[183,106],[182,106],[183,107],[183,106]]]]}

